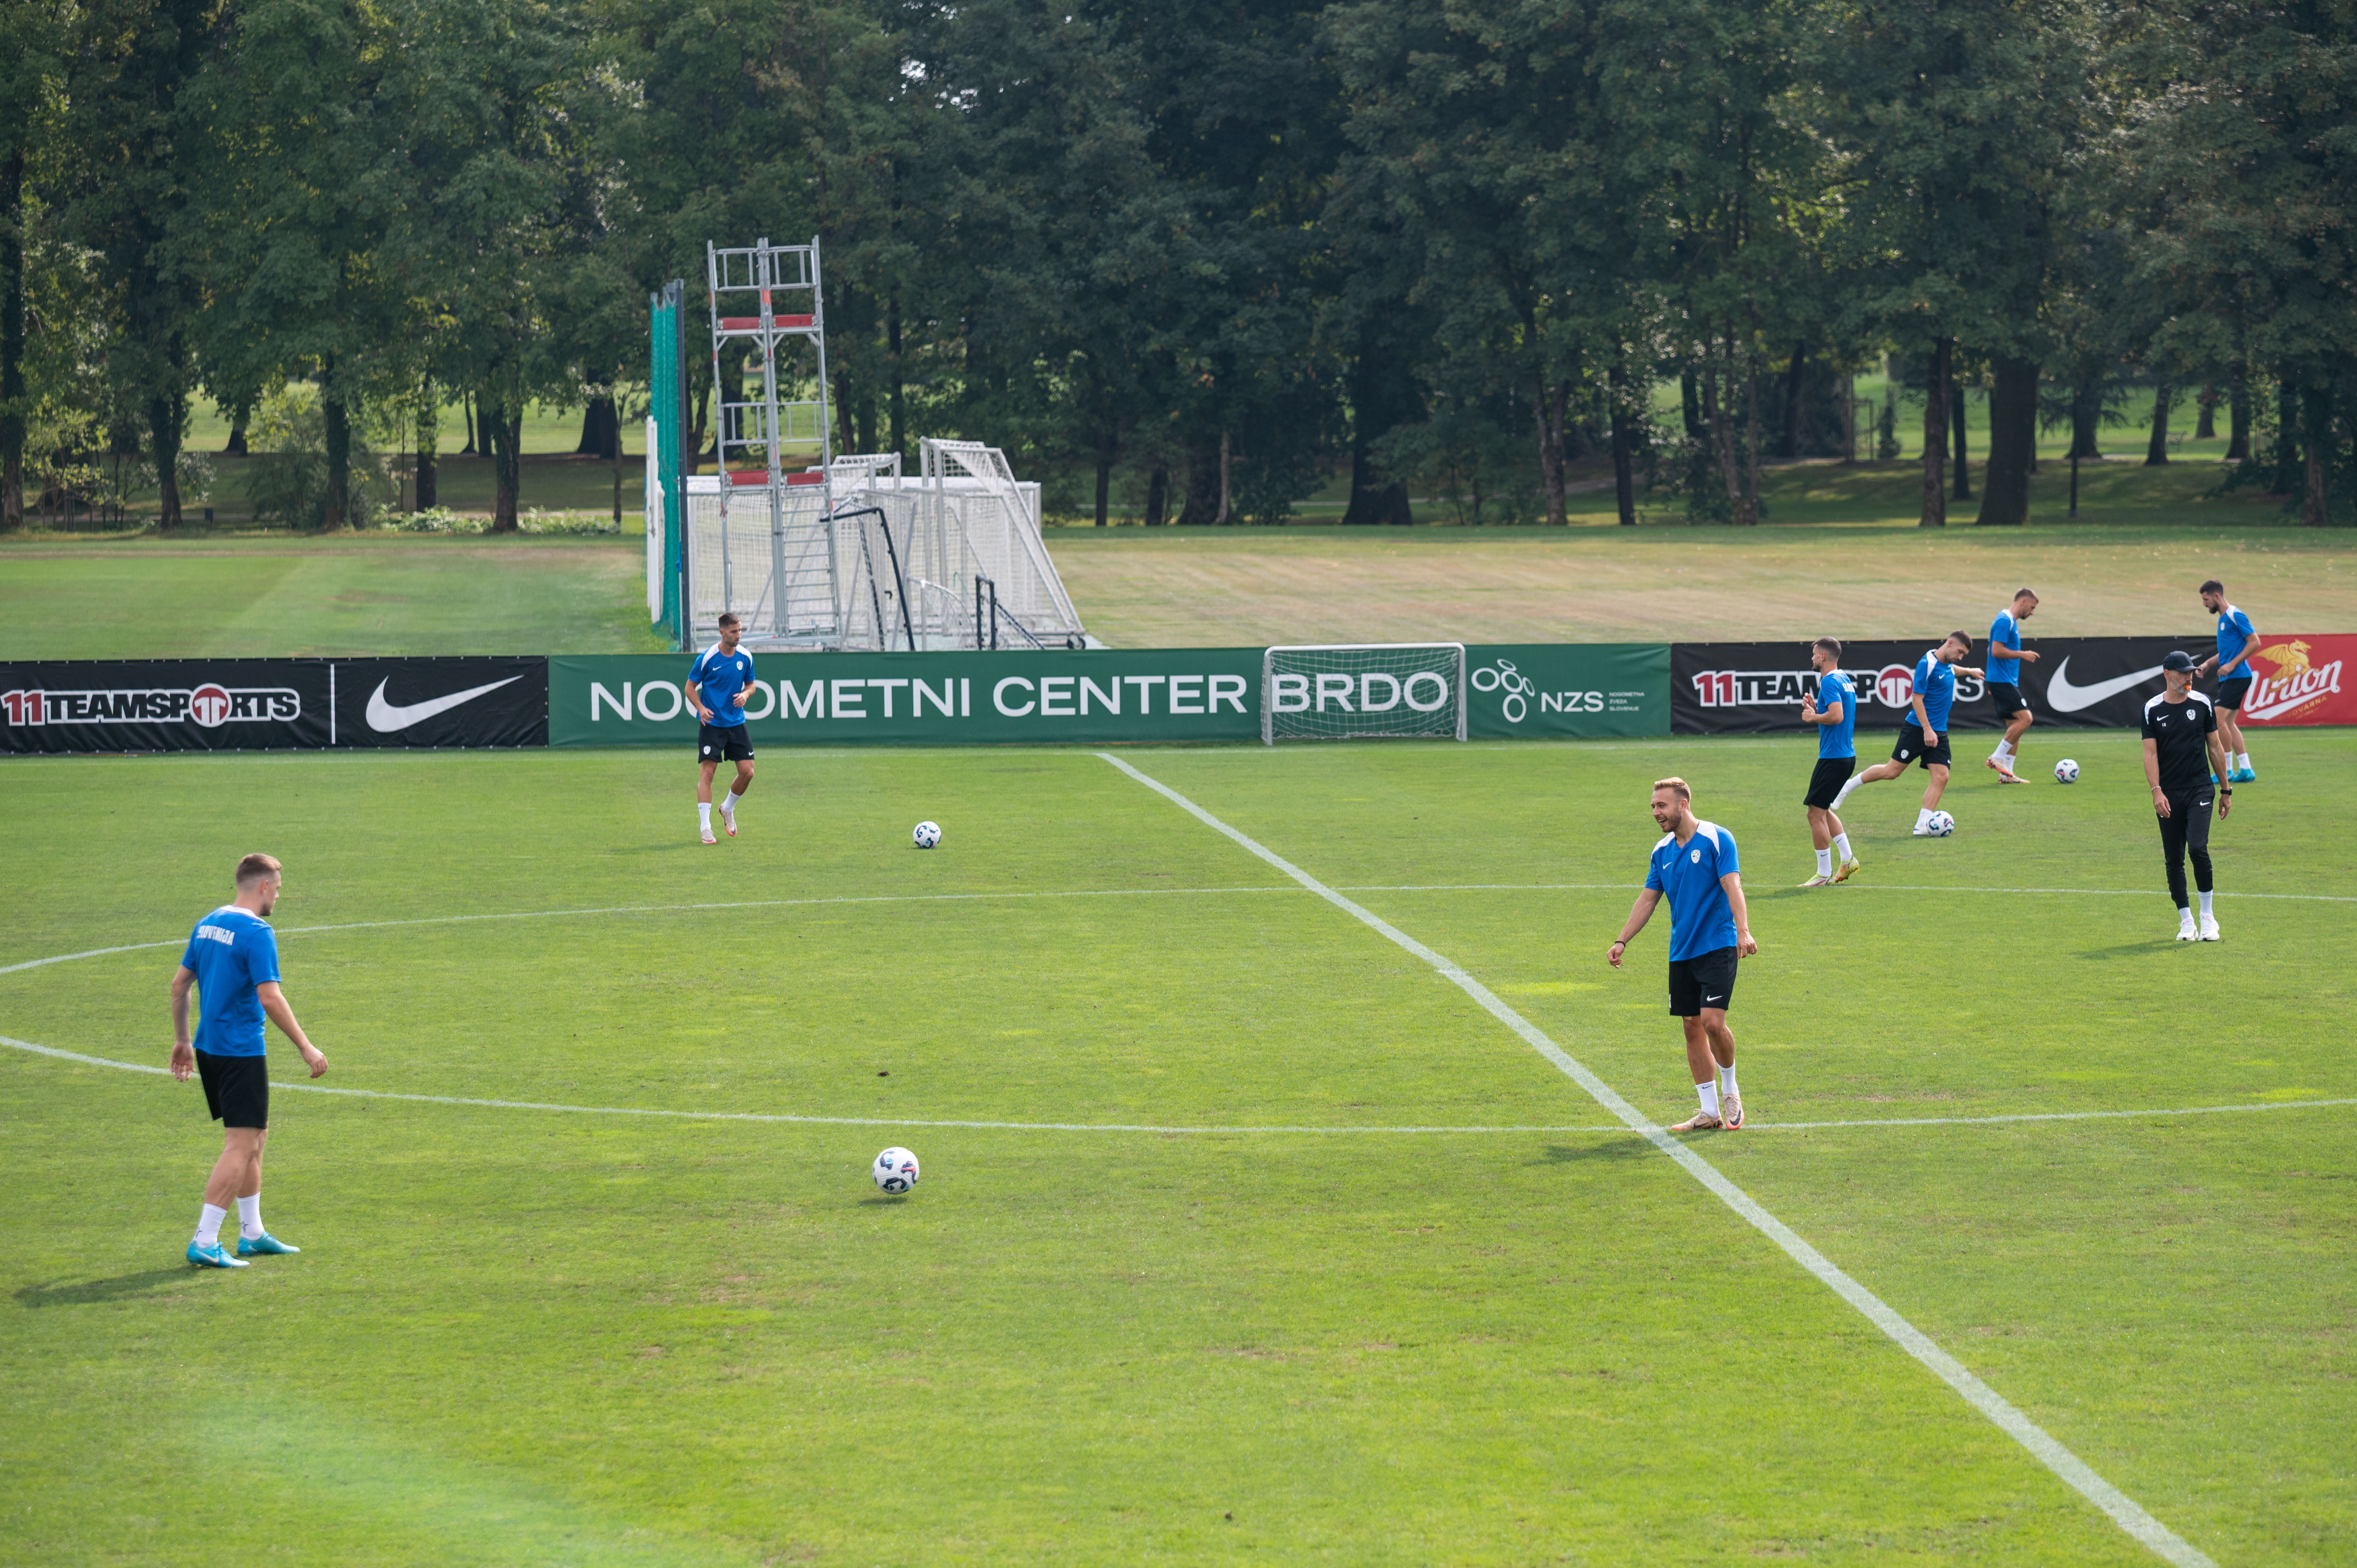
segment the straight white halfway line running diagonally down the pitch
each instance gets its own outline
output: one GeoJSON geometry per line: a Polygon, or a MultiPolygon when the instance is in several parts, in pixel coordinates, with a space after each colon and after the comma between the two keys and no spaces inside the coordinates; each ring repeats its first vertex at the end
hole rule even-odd
{"type": "Polygon", "coordinates": [[[1711,1191],[1711,1195],[1716,1195],[1730,1210],[1735,1210],[1761,1236],[1765,1236],[1777,1247],[1782,1247],[1787,1257],[1791,1257],[1796,1264],[1801,1264],[1813,1276],[1817,1276],[1817,1280],[1824,1283],[1834,1294],[1838,1294],[1843,1302],[1848,1302],[1850,1306],[1855,1306],[1869,1323],[1874,1323],[1874,1327],[1883,1330],[1883,1335],[1888,1335],[1902,1351],[1907,1351],[1909,1356],[1914,1356],[1916,1361],[1921,1361],[1935,1377],[1940,1377],[1940,1382],[1945,1382],[1947,1386],[1952,1386],[1956,1394],[1963,1396],[1963,1401],[1968,1405],[1973,1405],[1992,1424],[1996,1424],[1999,1431],[2003,1431],[2015,1443],[2020,1443],[2022,1448],[2027,1448],[2032,1452],[2032,1457],[2036,1457],[2046,1469],[2051,1469],[2055,1476],[2060,1476],[2072,1490],[2077,1490],[2081,1497],[2086,1497],[2098,1509],[2102,1509],[2112,1518],[2112,1523],[2117,1523],[2121,1530],[2126,1530],[2138,1542],[2143,1542],[2145,1547],[2150,1547],[2157,1556],[2161,1556],[2168,1563],[2176,1563],[2178,1568],[2216,1568],[2216,1563],[2206,1554],[2201,1554],[2199,1549],[2194,1549],[2192,1542],[2187,1542],[2176,1530],[2171,1530],[2168,1526],[2164,1526],[2159,1518],[2154,1518],[2152,1514],[2147,1514],[2133,1497],[2128,1497],[2126,1493],[2121,1493],[2117,1485],[2112,1485],[2110,1481],[2105,1481],[2102,1476],[2098,1476],[2086,1464],[2086,1460],[2081,1460],[2069,1448],[2065,1448],[2062,1443],[2058,1443],[2053,1438],[2053,1434],[2048,1434],[2044,1427],[2039,1427],[2027,1415],[2022,1415],[2003,1394],[1999,1394],[1996,1389],[1992,1389],[1989,1384],[1985,1384],[1980,1377],[1975,1377],[1970,1368],[1966,1368],[1961,1361],[1956,1361],[1954,1356],[1949,1356],[1947,1351],[1942,1351],[1937,1344],[1933,1344],[1930,1337],[1923,1335],[1923,1330],[1919,1330],[1914,1323],[1909,1323],[1907,1318],[1902,1318],[1879,1294],[1874,1294],[1871,1290],[1867,1290],[1864,1285],[1860,1285],[1855,1278],[1850,1278],[1848,1273],[1843,1273],[1841,1269],[1836,1269],[1831,1259],[1827,1259],[1813,1245],[1808,1245],[1805,1240],[1801,1240],[1801,1236],[1791,1226],[1787,1226],[1782,1219],[1777,1219],[1775,1214],[1770,1214],[1768,1210],[1763,1210],[1739,1186],[1735,1186],[1732,1181],[1728,1181],[1718,1172],[1716,1165],[1711,1165],[1709,1160],[1704,1160],[1699,1153],[1695,1153],[1692,1148],[1688,1148],[1678,1139],[1669,1137],[1669,1132],[1664,1132],[1652,1118],[1648,1118],[1643,1111],[1638,1111],[1626,1099],[1622,1099],[1619,1092],[1612,1089],[1612,1085],[1607,1085],[1603,1078],[1598,1078],[1596,1073],[1591,1073],[1589,1068],[1584,1068],[1579,1061],[1574,1061],[1560,1045],[1556,1045],[1553,1040],[1549,1040],[1530,1019],[1525,1019],[1516,1009],[1506,1007],[1506,1002],[1501,1002],[1494,990],[1490,990],[1487,986],[1483,986],[1480,981],[1475,981],[1471,974],[1466,974],[1464,969],[1459,969],[1447,957],[1442,957],[1442,955],[1433,953],[1431,948],[1426,948],[1424,943],[1419,943],[1407,931],[1400,931],[1398,927],[1393,927],[1391,922],[1386,922],[1374,910],[1343,898],[1339,891],[1334,891],[1332,887],[1327,887],[1318,877],[1308,875],[1306,870],[1301,870],[1292,861],[1285,861],[1282,856],[1277,856],[1266,844],[1259,844],[1256,839],[1252,839],[1252,837],[1237,832],[1235,828],[1230,828],[1228,823],[1219,821],[1216,816],[1211,816],[1209,811],[1204,811],[1202,806],[1197,806],[1195,802],[1190,802],[1186,795],[1178,795],[1169,785],[1157,783],[1155,778],[1148,778],[1146,773],[1141,773],[1138,769],[1129,766],[1127,762],[1122,762],[1113,752],[1098,752],[1098,757],[1103,757],[1105,762],[1110,762],[1120,771],[1129,773],[1131,778],[1136,778],[1141,785],[1146,785],[1155,795],[1162,795],[1174,806],[1178,806],[1181,811],[1186,811],[1188,816],[1193,816],[1195,821],[1200,821],[1204,828],[1211,828],[1214,832],[1233,839],[1247,854],[1261,858],[1263,863],[1268,863],[1270,868],[1285,872],[1287,877],[1292,877],[1294,882],[1299,882],[1308,891],[1318,894],[1320,898],[1325,898],[1334,908],[1339,908],[1346,915],[1351,915],[1351,917],[1360,920],[1362,924],[1372,927],[1374,931],[1379,931],[1381,936],[1391,938],[1393,943],[1398,943],[1407,953],[1414,953],[1417,957],[1421,957],[1440,976],[1445,976],[1459,990],[1464,990],[1468,997],[1473,997],[1492,1019],[1497,1019],[1499,1023],[1504,1023],[1506,1028],[1511,1028],[1534,1052],[1539,1052],[1551,1063],[1556,1063],[1556,1068],[1560,1068],[1572,1082],[1577,1082],[1582,1089],[1586,1089],[1589,1096],[1598,1106],[1603,1106],[1615,1118],[1619,1118],[1622,1125],[1626,1125],[1631,1132],[1640,1134],[1648,1144],[1652,1144],[1655,1148],[1659,1148],[1662,1153],[1666,1153],[1671,1160],[1676,1160],[1681,1167],[1685,1167],[1685,1172],[1690,1177],[1695,1177],[1695,1181],[1699,1181],[1702,1186],[1706,1186],[1711,1191]]]}

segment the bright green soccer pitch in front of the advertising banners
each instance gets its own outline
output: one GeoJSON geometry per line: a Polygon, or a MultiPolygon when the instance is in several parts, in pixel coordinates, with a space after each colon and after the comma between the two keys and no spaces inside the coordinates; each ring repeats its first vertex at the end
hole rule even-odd
{"type": "Polygon", "coordinates": [[[0,1556],[2164,1561],[1714,1177],[2192,1551],[2350,1561],[2357,733],[2256,740],[2216,946],[2128,733],[1810,894],[1798,740],[1120,752],[1468,983],[1084,750],[768,752],[714,849],[674,755],[12,762],[0,1035],[158,1068],[264,849],[332,1073],[304,1252],[198,1273],[198,1087],[0,1052],[0,1556]],[[1527,1037],[1692,1111],[1666,910],[1603,962],[1662,773],[1763,943],[1697,1167],[1527,1037]]]}

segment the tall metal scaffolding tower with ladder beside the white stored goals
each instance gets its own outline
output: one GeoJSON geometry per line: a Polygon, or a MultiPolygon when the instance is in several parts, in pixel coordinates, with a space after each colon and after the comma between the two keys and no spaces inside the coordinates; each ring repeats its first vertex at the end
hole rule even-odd
{"type": "Polygon", "coordinates": [[[771,245],[766,236],[733,250],[705,243],[705,269],[712,288],[712,396],[719,403],[721,599],[740,604],[728,514],[738,495],[759,490],[768,502],[768,559],[742,566],[766,566],[768,589],[747,615],[745,632],[764,644],[837,646],[844,634],[844,585],[834,547],[834,431],[827,417],[827,314],[818,236],[808,245],[771,245]],[[790,398],[780,389],[780,380],[794,373],[792,365],[780,365],[780,349],[792,354],[797,340],[816,356],[816,398],[790,398]],[[738,403],[726,401],[721,380],[721,363],[731,351],[747,356],[745,398],[738,403]],[[811,467],[790,469],[794,460],[787,448],[808,448],[811,467]]]}

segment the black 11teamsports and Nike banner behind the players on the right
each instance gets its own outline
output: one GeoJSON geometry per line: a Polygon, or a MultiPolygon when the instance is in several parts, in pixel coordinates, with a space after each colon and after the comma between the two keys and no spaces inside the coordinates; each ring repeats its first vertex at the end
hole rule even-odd
{"type": "MultiPolygon", "coordinates": [[[[2284,644],[2298,639],[2279,639],[2284,644]]],[[[2305,639],[2324,644],[2331,639],[2305,639]]],[[[1895,731],[1914,698],[1914,665],[1933,637],[1909,641],[1853,641],[1841,648],[1841,667],[1857,686],[1860,729],[1895,731]]],[[[2029,637],[2036,663],[2022,665],[2022,700],[2041,726],[2126,729],[2143,719],[2145,700],[2161,691],[2161,655],[2185,648],[2206,658],[2209,632],[2183,637],[2029,637]]],[[[1989,644],[1973,637],[1973,667],[1987,667],[1989,644]]],[[[1801,696],[1817,693],[1808,667],[1808,641],[1681,641],[1671,646],[1669,726],[1681,736],[1735,736],[1805,729],[1801,696]]],[[[2308,677],[2303,677],[2308,679],[2308,677]]],[[[2338,674],[2333,677],[2338,679],[2338,674]]],[[[2211,691],[2216,684],[2204,684],[2211,691]]],[[[2333,724],[2343,719],[2305,719],[2333,724]]],[[[1987,686],[1956,677],[1949,729],[1999,729],[1987,686]]],[[[1864,752],[1864,745],[1860,745],[1864,752]]]]}

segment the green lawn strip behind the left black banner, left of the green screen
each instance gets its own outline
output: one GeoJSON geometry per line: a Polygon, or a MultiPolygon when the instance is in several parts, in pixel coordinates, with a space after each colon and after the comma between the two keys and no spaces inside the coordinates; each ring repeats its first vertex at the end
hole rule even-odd
{"type": "Polygon", "coordinates": [[[655,653],[639,538],[40,538],[0,658],[655,653]]]}

